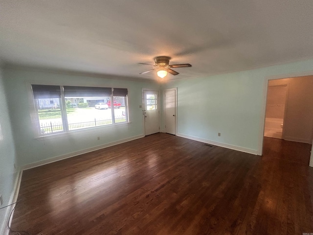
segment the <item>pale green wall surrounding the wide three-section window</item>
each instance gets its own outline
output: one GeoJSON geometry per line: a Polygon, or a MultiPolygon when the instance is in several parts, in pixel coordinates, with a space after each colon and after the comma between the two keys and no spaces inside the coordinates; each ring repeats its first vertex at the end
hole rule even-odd
{"type": "Polygon", "coordinates": [[[144,134],[142,109],[139,108],[139,105],[142,105],[141,88],[159,90],[159,85],[154,82],[112,79],[109,76],[97,77],[20,68],[6,68],[3,74],[20,166],[70,155],[116,141],[139,138],[144,134]],[[33,103],[28,99],[31,83],[127,88],[130,123],[72,132],[67,136],[56,135],[53,139],[35,139],[30,117],[33,103]],[[97,140],[97,137],[100,137],[100,140],[97,140]]]}

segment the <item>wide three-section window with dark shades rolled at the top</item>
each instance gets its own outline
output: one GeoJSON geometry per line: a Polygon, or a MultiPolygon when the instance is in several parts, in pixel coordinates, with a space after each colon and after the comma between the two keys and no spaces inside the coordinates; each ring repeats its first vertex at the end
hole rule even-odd
{"type": "Polygon", "coordinates": [[[40,135],[128,122],[127,89],[48,85],[32,89],[40,135]]]}

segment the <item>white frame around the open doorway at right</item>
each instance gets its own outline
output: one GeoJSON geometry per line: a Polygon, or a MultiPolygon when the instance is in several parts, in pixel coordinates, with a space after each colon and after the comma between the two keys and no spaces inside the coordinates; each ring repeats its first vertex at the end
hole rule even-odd
{"type": "MultiPolygon", "coordinates": [[[[258,151],[257,155],[262,156],[263,153],[263,138],[264,138],[264,128],[265,128],[265,117],[266,117],[266,102],[268,97],[268,81],[275,80],[275,79],[284,79],[284,78],[296,78],[296,77],[304,77],[304,76],[313,76],[313,71],[308,72],[295,72],[289,74],[280,74],[280,75],[273,75],[267,76],[264,79],[263,83],[263,106],[261,110],[261,121],[259,125],[259,143],[258,143],[258,151]]],[[[312,117],[313,118],[313,117],[312,117]]],[[[313,148],[312,148],[313,149],[313,148]]],[[[313,154],[311,152],[310,164],[313,167],[313,154]]]]}

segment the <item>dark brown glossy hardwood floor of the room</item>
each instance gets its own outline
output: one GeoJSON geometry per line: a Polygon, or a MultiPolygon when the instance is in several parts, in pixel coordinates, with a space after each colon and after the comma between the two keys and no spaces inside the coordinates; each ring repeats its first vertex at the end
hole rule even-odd
{"type": "Polygon", "coordinates": [[[313,233],[309,144],[255,156],[159,133],[25,170],[12,229],[32,235],[313,233]]]}

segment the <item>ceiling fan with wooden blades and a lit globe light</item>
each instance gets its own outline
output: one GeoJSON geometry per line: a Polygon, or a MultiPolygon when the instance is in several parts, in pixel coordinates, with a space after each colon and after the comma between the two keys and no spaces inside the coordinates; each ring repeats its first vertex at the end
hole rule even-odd
{"type": "MultiPolygon", "coordinates": [[[[155,63],[156,65],[152,65],[156,67],[155,69],[140,72],[139,74],[145,74],[151,71],[157,71],[156,74],[160,78],[164,78],[167,75],[167,72],[177,75],[179,72],[172,70],[171,68],[182,68],[182,67],[191,67],[191,64],[179,64],[179,65],[169,65],[171,57],[168,56],[157,56],[155,58],[155,63]]],[[[138,63],[141,65],[151,65],[151,64],[146,64],[146,63],[138,63]]],[[[158,79],[158,78],[157,78],[158,79]]]]}

